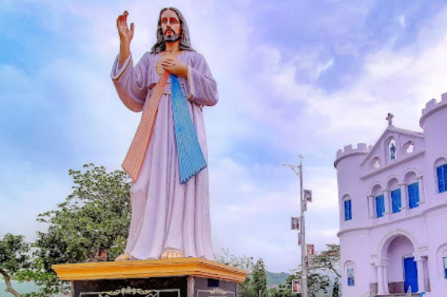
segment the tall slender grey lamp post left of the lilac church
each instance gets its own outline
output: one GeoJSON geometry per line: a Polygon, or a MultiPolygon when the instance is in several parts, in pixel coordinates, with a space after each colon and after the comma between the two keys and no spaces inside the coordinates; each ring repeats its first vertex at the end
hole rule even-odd
{"type": "Polygon", "coordinates": [[[305,227],[304,227],[304,212],[306,211],[307,201],[304,199],[303,188],[302,188],[302,158],[303,156],[299,154],[299,165],[283,164],[283,166],[290,167],[299,176],[299,201],[301,205],[301,216],[299,222],[299,232],[301,236],[301,296],[307,297],[307,250],[305,241],[305,227]]]}

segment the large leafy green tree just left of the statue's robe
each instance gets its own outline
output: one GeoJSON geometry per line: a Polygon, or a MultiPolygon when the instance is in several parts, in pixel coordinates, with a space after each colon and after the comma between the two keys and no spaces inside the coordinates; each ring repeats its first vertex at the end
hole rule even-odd
{"type": "Polygon", "coordinates": [[[53,264],[113,260],[123,252],[131,220],[131,180],[122,170],[107,172],[104,166],[85,164],[84,170],[69,170],[73,192],[56,210],[39,214],[48,224],[38,232],[34,262],[19,274],[20,281],[33,281],[40,291],[28,296],[70,294],[60,282],[53,264]]]}

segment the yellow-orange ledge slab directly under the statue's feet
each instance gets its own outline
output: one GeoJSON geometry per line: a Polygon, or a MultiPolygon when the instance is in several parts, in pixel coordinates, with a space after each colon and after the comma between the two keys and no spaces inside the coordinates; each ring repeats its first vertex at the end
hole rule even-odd
{"type": "Polygon", "coordinates": [[[241,283],[247,271],[200,258],[58,264],[62,281],[196,276],[241,283]]]}

